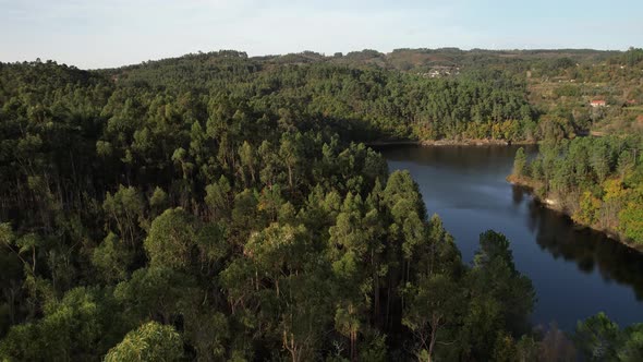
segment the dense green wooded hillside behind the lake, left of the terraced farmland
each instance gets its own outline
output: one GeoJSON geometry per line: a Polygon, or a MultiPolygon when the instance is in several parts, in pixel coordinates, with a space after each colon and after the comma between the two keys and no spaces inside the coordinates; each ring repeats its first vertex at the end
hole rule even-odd
{"type": "MultiPolygon", "coordinates": [[[[284,58],[288,58],[286,56],[284,58]]],[[[248,59],[221,51],[107,71],[121,87],[150,92],[222,94],[247,99],[287,122],[305,119],[350,140],[537,137],[526,83],[500,70],[472,70],[445,79],[336,64],[248,59]]]]}

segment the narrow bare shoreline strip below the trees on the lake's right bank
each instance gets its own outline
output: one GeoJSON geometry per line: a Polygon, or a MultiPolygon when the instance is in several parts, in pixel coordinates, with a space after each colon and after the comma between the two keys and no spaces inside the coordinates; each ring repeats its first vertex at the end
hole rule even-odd
{"type": "Polygon", "coordinates": [[[534,201],[536,203],[538,203],[543,207],[546,207],[550,210],[554,210],[556,213],[565,215],[567,218],[569,218],[574,224],[575,227],[587,228],[587,229],[592,229],[597,232],[602,232],[605,236],[607,236],[609,239],[611,239],[618,243],[621,243],[621,244],[628,246],[629,249],[634,250],[639,253],[643,253],[643,245],[633,244],[632,242],[630,242],[626,238],[621,237],[621,234],[618,232],[618,230],[606,229],[606,228],[598,227],[597,225],[586,225],[586,224],[580,224],[580,222],[575,221],[572,218],[572,214],[570,213],[570,210],[565,207],[563,203],[560,200],[551,197],[549,195],[544,196],[544,197],[542,195],[539,195],[537,190],[542,190],[542,188],[544,186],[544,184],[542,182],[534,181],[530,178],[515,177],[513,174],[510,174],[507,177],[507,182],[511,183],[512,185],[517,185],[519,188],[522,188],[522,189],[529,191],[532,194],[532,196],[534,197],[534,201]]]}

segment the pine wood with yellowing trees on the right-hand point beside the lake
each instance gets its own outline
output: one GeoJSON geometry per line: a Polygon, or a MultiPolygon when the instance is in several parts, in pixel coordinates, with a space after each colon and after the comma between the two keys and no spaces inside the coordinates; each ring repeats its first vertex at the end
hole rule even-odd
{"type": "Polygon", "coordinates": [[[527,160],[520,148],[509,179],[579,225],[606,231],[639,249],[643,244],[643,138],[578,137],[547,141],[527,160]]]}

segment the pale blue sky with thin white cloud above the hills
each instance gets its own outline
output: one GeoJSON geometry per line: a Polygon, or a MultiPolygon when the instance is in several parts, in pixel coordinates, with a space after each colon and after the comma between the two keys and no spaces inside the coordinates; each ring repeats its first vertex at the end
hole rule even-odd
{"type": "Polygon", "coordinates": [[[0,0],[0,61],[112,68],[190,52],[643,47],[643,1],[0,0]]]}

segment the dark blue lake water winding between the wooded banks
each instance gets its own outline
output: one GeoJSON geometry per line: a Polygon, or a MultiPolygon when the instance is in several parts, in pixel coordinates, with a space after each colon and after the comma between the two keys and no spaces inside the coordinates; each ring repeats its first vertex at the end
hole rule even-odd
{"type": "MultiPolygon", "coordinates": [[[[602,233],[579,230],[505,181],[517,147],[396,146],[379,150],[389,169],[408,169],[471,262],[478,234],[494,229],[511,241],[515,265],[537,293],[535,324],[572,330],[597,312],[626,326],[643,322],[643,256],[602,233]]],[[[527,149],[534,154],[535,148],[527,149]]]]}

